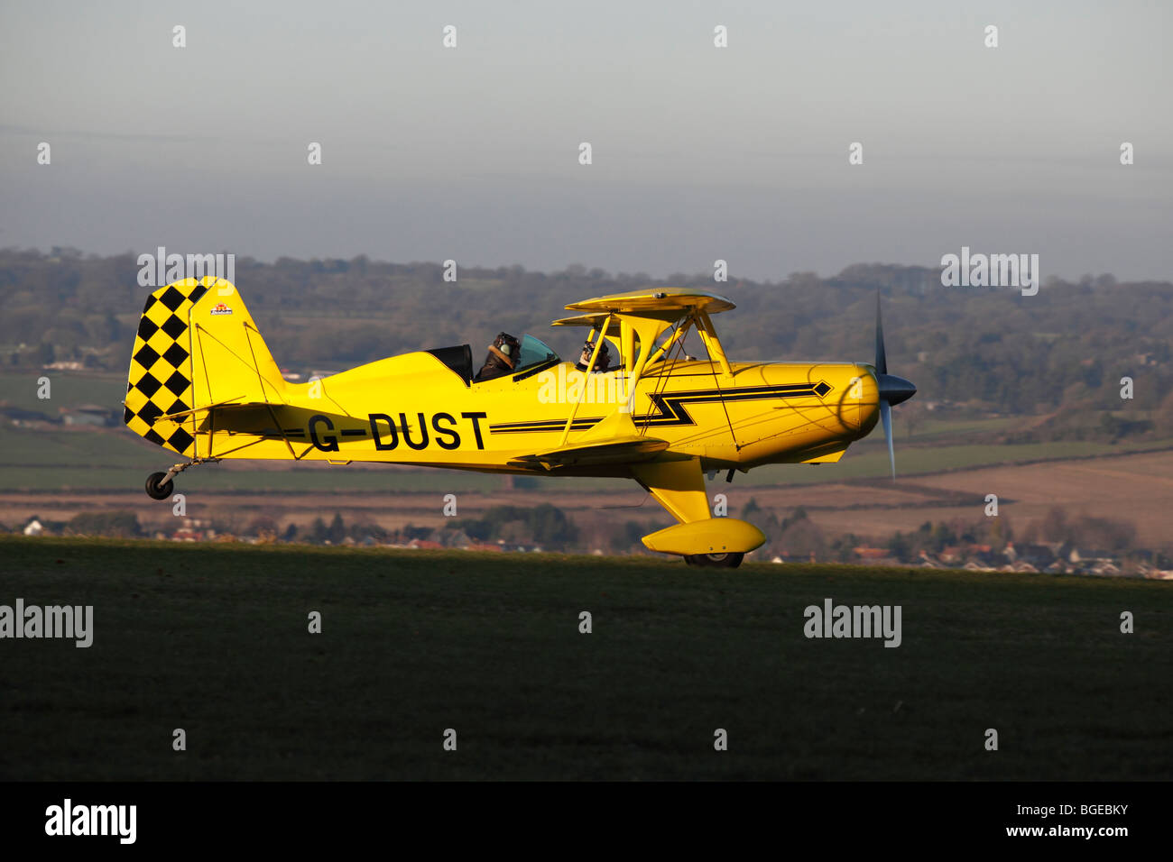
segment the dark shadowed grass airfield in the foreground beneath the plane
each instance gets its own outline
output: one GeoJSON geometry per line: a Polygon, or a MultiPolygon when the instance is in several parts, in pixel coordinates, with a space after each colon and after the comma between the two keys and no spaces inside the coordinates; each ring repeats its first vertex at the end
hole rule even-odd
{"type": "Polygon", "coordinates": [[[6,537],[0,584],[95,617],[0,640],[0,779],[1173,773],[1162,582],[6,537]],[[902,645],[805,638],[828,597],[902,645]]]}

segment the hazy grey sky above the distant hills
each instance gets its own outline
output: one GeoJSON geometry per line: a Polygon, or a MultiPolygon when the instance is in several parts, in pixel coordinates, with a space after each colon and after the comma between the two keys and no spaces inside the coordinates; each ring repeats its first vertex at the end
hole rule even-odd
{"type": "Polygon", "coordinates": [[[6,0],[0,246],[1169,279],[1171,9],[6,0]]]}

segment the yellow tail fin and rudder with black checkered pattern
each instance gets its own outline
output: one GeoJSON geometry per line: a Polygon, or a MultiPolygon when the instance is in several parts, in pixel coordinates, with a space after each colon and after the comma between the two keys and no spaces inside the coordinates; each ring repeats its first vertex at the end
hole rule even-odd
{"type": "Polygon", "coordinates": [[[122,419],[142,437],[188,457],[208,408],[284,403],[285,380],[236,287],[205,276],[161,287],[143,306],[122,419]],[[201,415],[203,414],[203,415],[201,415]]]}

